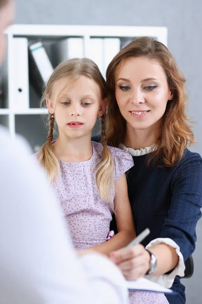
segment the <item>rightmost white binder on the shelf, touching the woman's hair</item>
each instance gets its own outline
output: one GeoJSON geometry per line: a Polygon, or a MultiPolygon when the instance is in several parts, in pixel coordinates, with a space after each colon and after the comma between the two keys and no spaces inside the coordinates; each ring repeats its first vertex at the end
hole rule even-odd
{"type": "Polygon", "coordinates": [[[121,48],[121,43],[120,43],[119,38],[104,38],[103,39],[105,73],[106,73],[109,63],[120,51],[120,48],[121,48]]]}

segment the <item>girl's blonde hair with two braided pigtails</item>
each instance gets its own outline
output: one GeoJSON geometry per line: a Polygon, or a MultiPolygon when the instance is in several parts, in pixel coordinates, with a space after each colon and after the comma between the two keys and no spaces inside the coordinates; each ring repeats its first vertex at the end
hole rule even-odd
{"type": "MultiPolygon", "coordinates": [[[[44,88],[41,98],[41,106],[46,106],[46,98],[51,98],[55,82],[64,77],[71,77],[71,80],[76,81],[80,76],[89,78],[99,86],[100,102],[103,102],[107,96],[106,81],[100,73],[97,65],[92,60],[87,58],[75,58],[64,61],[56,67],[44,88]]],[[[48,122],[49,132],[47,141],[39,150],[38,161],[48,173],[51,182],[56,182],[57,175],[60,173],[60,165],[56,155],[54,154],[52,145],[55,118],[54,116],[52,117],[51,113],[48,113],[48,122]]],[[[107,146],[105,130],[106,114],[104,113],[104,115],[101,117],[101,143],[103,144],[103,154],[96,166],[95,180],[102,198],[105,200],[110,200],[112,198],[114,185],[114,168],[112,155],[107,146]]]]}

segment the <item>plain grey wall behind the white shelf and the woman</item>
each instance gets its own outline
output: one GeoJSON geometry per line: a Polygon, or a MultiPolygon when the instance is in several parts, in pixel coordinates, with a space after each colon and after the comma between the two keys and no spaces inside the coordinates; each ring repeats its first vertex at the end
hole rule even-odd
{"type": "MultiPolygon", "coordinates": [[[[142,25],[167,26],[168,47],[187,79],[188,113],[196,122],[193,126],[197,144],[192,150],[202,155],[201,101],[201,32],[202,2],[200,0],[17,0],[15,23],[142,25]]],[[[188,304],[201,303],[200,279],[202,221],[197,226],[194,275],[183,280],[188,304]]]]}

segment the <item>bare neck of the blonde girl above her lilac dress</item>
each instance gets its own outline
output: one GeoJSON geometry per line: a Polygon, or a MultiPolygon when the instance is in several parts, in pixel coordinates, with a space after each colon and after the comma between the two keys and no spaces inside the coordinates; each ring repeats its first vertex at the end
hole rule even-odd
{"type": "Polygon", "coordinates": [[[92,157],[90,137],[69,138],[63,134],[53,143],[56,157],[64,162],[84,162],[92,157]]]}

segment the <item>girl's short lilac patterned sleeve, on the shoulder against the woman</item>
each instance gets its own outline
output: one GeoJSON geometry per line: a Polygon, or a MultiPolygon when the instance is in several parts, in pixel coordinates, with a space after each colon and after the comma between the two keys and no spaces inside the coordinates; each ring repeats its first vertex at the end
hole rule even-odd
{"type": "Polygon", "coordinates": [[[134,166],[132,156],[119,148],[109,147],[114,159],[115,181],[134,166]]]}

